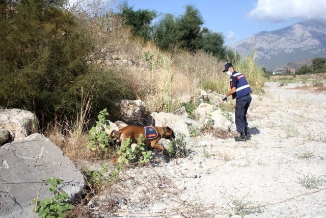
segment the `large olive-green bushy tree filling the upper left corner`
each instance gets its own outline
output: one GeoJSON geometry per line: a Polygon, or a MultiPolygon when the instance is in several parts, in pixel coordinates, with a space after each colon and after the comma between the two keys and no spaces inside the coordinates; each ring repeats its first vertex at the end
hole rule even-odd
{"type": "Polygon", "coordinates": [[[42,121],[69,116],[80,103],[82,86],[92,91],[94,106],[112,104],[121,83],[87,63],[96,44],[62,1],[8,0],[4,5],[0,4],[1,107],[33,111],[42,121]]]}

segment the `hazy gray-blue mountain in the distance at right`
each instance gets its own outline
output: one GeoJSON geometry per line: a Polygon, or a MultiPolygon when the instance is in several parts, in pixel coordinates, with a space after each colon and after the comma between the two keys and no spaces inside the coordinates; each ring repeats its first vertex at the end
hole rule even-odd
{"type": "Polygon", "coordinates": [[[241,55],[256,51],[256,61],[266,70],[289,62],[326,57],[326,25],[316,20],[297,22],[270,32],[259,32],[227,46],[241,55]]]}

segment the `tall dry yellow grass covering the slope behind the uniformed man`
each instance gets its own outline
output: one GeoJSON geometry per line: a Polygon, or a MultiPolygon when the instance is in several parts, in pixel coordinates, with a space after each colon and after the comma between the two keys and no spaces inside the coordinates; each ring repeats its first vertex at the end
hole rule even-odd
{"type": "MultiPolygon", "coordinates": [[[[80,16],[86,20],[85,14],[80,16]]],[[[146,102],[148,113],[177,109],[180,104],[172,100],[178,99],[180,93],[195,99],[197,90],[207,87],[207,83],[220,94],[229,90],[229,77],[222,72],[225,63],[205,52],[160,51],[154,42],[133,37],[122,20],[110,13],[87,23],[92,38],[99,42],[90,62],[118,71],[132,93],[146,102]]],[[[262,89],[262,74],[253,56],[235,65],[246,74],[253,89],[262,89]]]]}

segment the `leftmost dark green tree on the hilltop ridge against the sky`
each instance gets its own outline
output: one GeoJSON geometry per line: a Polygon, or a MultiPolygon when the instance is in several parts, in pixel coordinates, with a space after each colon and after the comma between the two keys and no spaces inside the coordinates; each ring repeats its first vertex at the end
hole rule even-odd
{"type": "Polygon", "coordinates": [[[153,27],[151,22],[156,18],[157,12],[154,10],[134,11],[133,7],[128,7],[127,2],[122,4],[121,13],[119,16],[125,19],[124,24],[132,27],[134,35],[143,37],[149,40],[152,35],[153,27]]]}

